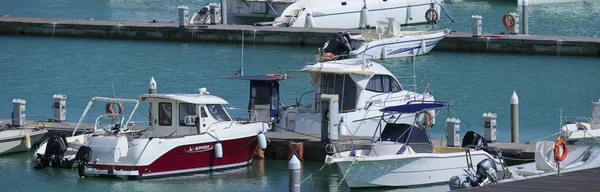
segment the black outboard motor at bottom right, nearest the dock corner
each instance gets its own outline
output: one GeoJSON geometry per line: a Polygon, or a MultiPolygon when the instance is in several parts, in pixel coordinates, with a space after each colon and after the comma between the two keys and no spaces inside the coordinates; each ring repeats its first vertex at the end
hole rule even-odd
{"type": "Polygon", "coordinates": [[[477,186],[485,186],[498,182],[498,170],[496,162],[488,158],[477,164],[477,172],[468,172],[464,181],[460,181],[460,177],[454,176],[450,178],[449,186],[451,190],[464,189],[477,186]]]}

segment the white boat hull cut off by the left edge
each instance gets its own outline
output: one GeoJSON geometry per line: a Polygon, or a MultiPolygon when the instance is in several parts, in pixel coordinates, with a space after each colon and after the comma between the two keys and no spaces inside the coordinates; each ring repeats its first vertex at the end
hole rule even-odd
{"type": "Polygon", "coordinates": [[[25,142],[25,134],[29,133],[31,145],[40,141],[48,130],[15,129],[2,131],[6,137],[0,138],[0,154],[29,151],[25,142]]]}

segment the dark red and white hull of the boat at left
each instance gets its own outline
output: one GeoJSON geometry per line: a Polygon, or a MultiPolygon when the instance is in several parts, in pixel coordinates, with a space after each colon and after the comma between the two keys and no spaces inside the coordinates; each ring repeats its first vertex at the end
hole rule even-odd
{"type": "MultiPolygon", "coordinates": [[[[158,143],[160,142],[158,141],[158,143]]],[[[223,146],[223,157],[220,159],[215,156],[215,142],[189,143],[164,151],[164,154],[160,157],[145,165],[136,162],[142,162],[144,161],[142,158],[145,159],[150,155],[141,155],[140,159],[133,161],[133,163],[94,164],[90,162],[85,174],[115,176],[122,179],[141,179],[244,166],[251,163],[257,150],[258,141],[256,136],[250,136],[221,140],[221,144],[223,146]]],[[[150,147],[150,145],[156,145],[156,142],[149,141],[147,145],[149,145],[148,148],[160,150],[160,148],[150,147]]],[[[162,151],[151,153],[162,153],[162,151]]]]}

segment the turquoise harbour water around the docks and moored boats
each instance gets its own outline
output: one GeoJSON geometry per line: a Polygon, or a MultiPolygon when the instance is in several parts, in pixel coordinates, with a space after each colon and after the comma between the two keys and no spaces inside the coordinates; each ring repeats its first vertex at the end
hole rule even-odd
{"type": "MultiPolygon", "coordinates": [[[[195,1],[2,1],[0,14],[31,17],[61,17],[137,20],[171,20],[176,6],[192,6],[195,1]],[[143,5],[143,6],[140,6],[143,5]],[[173,14],[172,14],[173,13],[173,14]]],[[[202,3],[203,4],[203,3],[202,3]]],[[[470,16],[484,13],[484,31],[500,32],[500,18],[518,6],[506,3],[468,1],[445,3],[457,23],[442,20],[443,27],[470,30],[470,16]],[[498,23],[497,26],[492,24],[498,23]],[[459,24],[460,23],[460,24],[459,24]],[[489,24],[489,26],[488,26],[489,24]]],[[[592,20],[599,3],[562,3],[531,6],[535,34],[598,35],[598,22],[592,20]],[[566,8],[565,8],[566,7],[566,8]],[[567,14],[569,13],[569,14],[567,14]],[[583,26],[586,27],[575,27],[583,26]]],[[[207,87],[231,107],[247,106],[248,84],[222,80],[240,68],[239,44],[118,41],[99,39],[41,38],[0,36],[0,119],[10,117],[11,100],[27,99],[27,116],[45,119],[52,116],[52,95],[68,96],[67,120],[76,121],[92,96],[137,98],[146,93],[150,77],[158,83],[159,93],[194,93],[207,87]],[[114,93],[113,93],[114,85],[114,93]]],[[[246,74],[263,74],[298,69],[313,57],[316,47],[246,44],[246,74]]],[[[382,61],[397,76],[412,75],[405,60],[382,61]]],[[[521,141],[532,141],[559,129],[559,113],[589,116],[590,102],[600,99],[597,58],[474,54],[432,52],[415,59],[417,76],[432,80],[437,99],[454,103],[453,111],[464,118],[462,133],[483,132],[482,114],[498,114],[498,140],[510,140],[509,99],[513,91],[520,97],[521,141]]],[[[282,83],[282,101],[311,89],[304,74],[282,83]]],[[[401,79],[405,88],[412,80],[401,79]]],[[[310,99],[304,99],[309,101],[310,99]]],[[[92,110],[103,111],[103,106],[92,110]]],[[[130,111],[127,108],[126,111],[130,111]]],[[[139,109],[144,113],[147,107],[139,109]]],[[[135,120],[144,120],[138,113],[135,120]]],[[[446,118],[442,112],[438,121],[446,118]]],[[[93,115],[92,115],[93,116],[93,115]]],[[[87,119],[91,121],[91,119],[87,119]]],[[[443,127],[432,129],[434,139],[443,136],[443,127]]],[[[252,166],[214,174],[181,176],[143,181],[107,179],[78,180],[74,171],[32,170],[31,153],[0,158],[0,191],[282,191],[287,187],[287,162],[266,160],[252,166]],[[261,168],[263,167],[263,168],[261,168]],[[7,187],[8,186],[8,187],[7,187]]],[[[322,163],[305,163],[305,176],[322,163]]],[[[318,191],[337,190],[337,171],[325,168],[315,177],[318,191]],[[332,175],[330,178],[329,175],[332,175]]],[[[304,184],[303,189],[309,190],[304,184]]],[[[342,188],[341,190],[347,190],[342,188]]]]}

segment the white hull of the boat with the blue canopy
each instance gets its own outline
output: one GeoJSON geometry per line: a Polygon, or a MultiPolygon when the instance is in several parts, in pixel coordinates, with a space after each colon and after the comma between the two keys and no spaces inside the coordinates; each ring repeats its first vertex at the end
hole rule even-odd
{"type": "MultiPolygon", "coordinates": [[[[483,151],[471,152],[473,162],[492,158],[483,151]]],[[[446,184],[467,169],[464,152],[448,154],[415,153],[403,157],[357,157],[335,161],[350,188],[417,187],[446,184]]],[[[445,190],[450,190],[445,189],[445,190]]]]}

